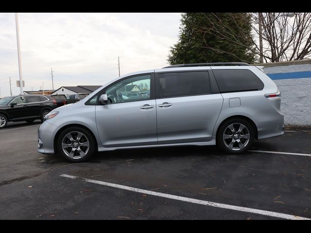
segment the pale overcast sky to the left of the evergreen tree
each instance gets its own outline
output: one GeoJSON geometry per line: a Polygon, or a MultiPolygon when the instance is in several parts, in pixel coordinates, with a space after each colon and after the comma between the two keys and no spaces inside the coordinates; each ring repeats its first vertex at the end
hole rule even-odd
{"type": "MultiPolygon", "coordinates": [[[[103,85],[121,75],[167,66],[180,13],[18,13],[24,90],[103,85]]],[[[14,13],[0,13],[1,97],[18,76],[14,13]]]]}

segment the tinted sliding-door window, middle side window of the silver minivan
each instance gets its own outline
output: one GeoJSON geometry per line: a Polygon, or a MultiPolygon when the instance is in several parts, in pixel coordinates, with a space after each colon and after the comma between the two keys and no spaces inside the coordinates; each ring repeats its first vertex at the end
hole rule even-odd
{"type": "Polygon", "coordinates": [[[161,73],[158,78],[160,98],[210,94],[207,71],[161,73]]]}

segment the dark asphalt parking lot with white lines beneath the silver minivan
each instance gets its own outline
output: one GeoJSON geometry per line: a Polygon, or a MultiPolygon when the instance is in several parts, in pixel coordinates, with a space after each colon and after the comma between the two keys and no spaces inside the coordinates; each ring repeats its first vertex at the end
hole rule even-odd
{"type": "Polygon", "coordinates": [[[69,164],[37,152],[39,125],[0,130],[0,219],[311,218],[310,128],[287,128],[242,155],[172,147],[69,164]]]}

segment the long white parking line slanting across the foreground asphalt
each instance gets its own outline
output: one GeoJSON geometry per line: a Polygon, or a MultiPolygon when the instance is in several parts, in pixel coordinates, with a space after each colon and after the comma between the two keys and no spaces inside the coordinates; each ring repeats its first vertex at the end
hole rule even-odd
{"type": "Polygon", "coordinates": [[[101,185],[105,185],[105,186],[109,186],[109,187],[120,188],[120,189],[129,190],[129,191],[133,191],[133,192],[153,195],[153,196],[157,196],[157,197],[169,198],[169,199],[173,199],[173,200],[181,200],[181,201],[186,201],[186,202],[191,202],[191,203],[201,204],[201,205],[207,205],[207,206],[212,206],[212,207],[217,207],[217,208],[236,210],[236,211],[248,212],[248,213],[265,215],[265,216],[272,216],[272,217],[279,217],[279,218],[285,218],[285,219],[292,219],[292,220],[311,220],[311,218],[306,218],[306,217],[286,215],[286,214],[281,214],[281,213],[276,213],[276,212],[271,212],[271,211],[265,211],[265,210],[252,209],[252,208],[246,208],[246,207],[241,207],[241,206],[236,206],[236,205],[221,204],[221,203],[216,203],[216,202],[211,202],[211,201],[206,201],[206,200],[197,200],[197,199],[192,199],[192,198],[185,198],[185,197],[175,196],[175,195],[166,194],[166,193],[158,193],[158,192],[154,192],[154,191],[144,190],[144,189],[140,189],[140,188],[133,188],[133,187],[129,187],[129,186],[121,185],[121,184],[116,184],[116,183],[107,183],[107,182],[103,182],[103,181],[96,181],[96,180],[90,180],[90,179],[86,179],[86,178],[79,178],[77,176],[70,176],[67,174],[62,174],[60,176],[70,178],[70,179],[81,179],[81,180],[88,182],[88,183],[96,183],[96,184],[101,184],[101,185]]]}

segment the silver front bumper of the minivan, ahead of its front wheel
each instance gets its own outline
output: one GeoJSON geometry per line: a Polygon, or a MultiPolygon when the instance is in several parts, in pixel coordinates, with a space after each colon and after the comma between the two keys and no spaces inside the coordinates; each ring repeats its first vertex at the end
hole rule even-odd
{"type": "Polygon", "coordinates": [[[57,127],[44,121],[38,129],[38,152],[43,154],[54,153],[54,137],[57,127]]]}

